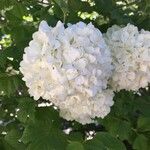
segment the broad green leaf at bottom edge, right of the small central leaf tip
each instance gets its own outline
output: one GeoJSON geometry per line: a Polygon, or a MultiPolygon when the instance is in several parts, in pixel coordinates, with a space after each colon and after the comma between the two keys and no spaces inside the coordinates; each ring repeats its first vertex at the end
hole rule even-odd
{"type": "Polygon", "coordinates": [[[85,143],[86,150],[126,150],[124,144],[109,133],[99,132],[96,136],[85,143]]]}

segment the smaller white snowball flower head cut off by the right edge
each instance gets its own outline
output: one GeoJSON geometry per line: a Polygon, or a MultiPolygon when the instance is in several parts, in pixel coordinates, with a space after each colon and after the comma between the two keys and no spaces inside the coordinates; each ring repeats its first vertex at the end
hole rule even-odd
{"type": "Polygon", "coordinates": [[[114,90],[145,88],[150,82],[150,32],[134,25],[112,26],[104,35],[111,49],[114,71],[110,81],[114,90]]]}

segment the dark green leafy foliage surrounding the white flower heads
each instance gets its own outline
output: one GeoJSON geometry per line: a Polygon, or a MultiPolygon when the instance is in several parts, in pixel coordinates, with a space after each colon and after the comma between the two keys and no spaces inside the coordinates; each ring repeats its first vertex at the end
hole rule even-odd
{"type": "Polygon", "coordinates": [[[85,126],[63,120],[53,106],[38,107],[48,102],[35,102],[22,75],[8,68],[19,70],[41,20],[150,30],[150,0],[0,0],[0,150],[150,150],[150,90],[116,93],[111,113],[85,126]]]}

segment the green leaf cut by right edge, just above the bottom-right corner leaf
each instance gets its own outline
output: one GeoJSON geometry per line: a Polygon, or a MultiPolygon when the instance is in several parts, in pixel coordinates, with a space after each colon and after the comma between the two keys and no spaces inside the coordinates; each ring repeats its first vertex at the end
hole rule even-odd
{"type": "Polygon", "coordinates": [[[142,132],[150,131],[150,117],[139,117],[137,127],[142,132]]]}

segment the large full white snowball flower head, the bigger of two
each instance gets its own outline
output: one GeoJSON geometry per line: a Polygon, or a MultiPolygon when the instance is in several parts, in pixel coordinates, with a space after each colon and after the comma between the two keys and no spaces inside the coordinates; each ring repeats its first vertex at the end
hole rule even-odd
{"type": "Polygon", "coordinates": [[[25,48],[20,70],[30,95],[53,102],[67,120],[91,123],[113,105],[113,92],[107,90],[110,51],[91,23],[64,28],[58,22],[52,28],[42,21],[25,48]]]}

